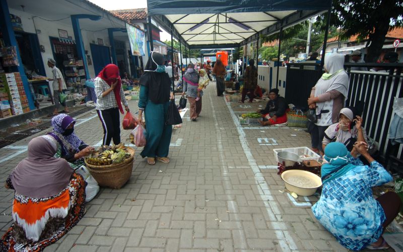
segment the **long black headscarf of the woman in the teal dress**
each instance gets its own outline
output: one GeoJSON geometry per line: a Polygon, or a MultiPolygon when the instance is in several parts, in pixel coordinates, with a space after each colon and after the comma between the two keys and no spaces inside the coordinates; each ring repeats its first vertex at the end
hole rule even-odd
{"type": "Polygon", "coordinates": [[[152,102],[169,101],[171,79],[165,72],[164,55],[159,52],[151,52],[144,68],[144,74],[140,78],[140,85],[148,87],[148,97],[152,102]]]}

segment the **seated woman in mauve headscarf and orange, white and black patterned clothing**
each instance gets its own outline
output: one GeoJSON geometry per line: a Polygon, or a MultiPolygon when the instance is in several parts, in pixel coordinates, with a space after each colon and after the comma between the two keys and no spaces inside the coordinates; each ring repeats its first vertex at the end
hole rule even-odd
{"type": "Polygon", "coordinates": [[[53,157],[57,142],[33,138],[24,158],[6,180],[15,190],[13,220],[0,251],[42,251],[72,229],[85,213],[86,182],[69,163],[53,157]]]}

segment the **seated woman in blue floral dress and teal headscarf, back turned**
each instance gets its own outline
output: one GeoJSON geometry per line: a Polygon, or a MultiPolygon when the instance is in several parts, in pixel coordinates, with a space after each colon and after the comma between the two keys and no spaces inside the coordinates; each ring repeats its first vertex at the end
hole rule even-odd
{"type": "Polygon", "coordinates": [[[349,153],[342,143],[330,143],[324,150],[329,162],[322,165],[322,195],[312,207],[313,215],[334,237],[351,250],[387,248],[382,233],[394,220],[401,200],[394,192],[372,197],[371,187],[392,180],[390,174],[357,142],[349,153]],[[355,158],[360,153],[370,167],[355,158]]]}

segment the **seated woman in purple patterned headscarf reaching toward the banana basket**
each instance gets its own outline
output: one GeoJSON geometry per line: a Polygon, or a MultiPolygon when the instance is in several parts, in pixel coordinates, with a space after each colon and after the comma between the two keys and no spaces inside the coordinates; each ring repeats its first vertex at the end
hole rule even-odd
{"type": "Polygon", "coordinates": [[[84,157],[94,151],[94,147],[86,145],[74,134],[75,123],[70,115],[58,114],[53,116],[53,131],[48,133],[59,143],[55,157],[64,158],[73,169],[85,165],[84,157]]]}

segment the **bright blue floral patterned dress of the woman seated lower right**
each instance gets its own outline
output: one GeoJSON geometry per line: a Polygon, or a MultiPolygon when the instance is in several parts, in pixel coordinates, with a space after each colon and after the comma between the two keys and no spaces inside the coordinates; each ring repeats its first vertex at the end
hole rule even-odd
{"type": "Polygon", "coordinates": [[[392,177],[376,161],[370,167],[353,157],[349,161],[357,166],[323,184],[322,195],[312,212],[343,246],[361,250],[382,235],[385,221],[383,208],[372,197],[371,187],[387,183],[392,177]]]}

